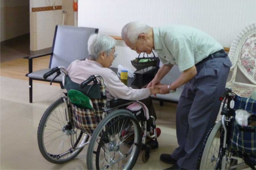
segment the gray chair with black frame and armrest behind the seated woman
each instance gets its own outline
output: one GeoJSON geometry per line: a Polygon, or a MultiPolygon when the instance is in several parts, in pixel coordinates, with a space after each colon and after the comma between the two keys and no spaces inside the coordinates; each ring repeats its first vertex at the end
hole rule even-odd
{"type": "MultiPolygon", "coordinates": [[[[29,102],[32,103],[32,88],[33,80],[50,82],[56,73],[49,76],[46,80],[43,75],[54,67],[64,66],[76,59],[85,59],[88,56],[87,42],[91,34],[98,33],[98,28],[74,27],[68,25],[56,25],[53,38],[51,52],[24,57],[28,59],[28,74],[29,78],[29,102]],[[33,72],[33,59],[51,55],[49,68],[33,72]]],[[[59,75],[53,82],[62,85],[62,74],[59,75]]]]}

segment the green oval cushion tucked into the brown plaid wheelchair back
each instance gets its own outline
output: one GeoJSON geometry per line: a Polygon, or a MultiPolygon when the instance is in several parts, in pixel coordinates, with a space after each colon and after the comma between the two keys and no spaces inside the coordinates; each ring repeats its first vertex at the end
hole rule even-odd
{"type": "Polygon", "coordinates": [[[82,109],[92,109],[92,101],[88,96],[83,94],[82,92],[79,92],[78,90],[69,90],[68,91],[69,100],[71,103],[76,105],[79,108],[82,109]]]}

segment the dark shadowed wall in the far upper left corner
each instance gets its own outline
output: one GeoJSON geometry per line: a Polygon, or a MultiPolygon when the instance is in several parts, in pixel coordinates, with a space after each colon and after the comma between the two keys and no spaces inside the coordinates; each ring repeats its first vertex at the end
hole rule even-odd
{"type": "Polygon", "coordinates": [[[1,0],[1,41],[29,33],[29,0],[1,0]]]}

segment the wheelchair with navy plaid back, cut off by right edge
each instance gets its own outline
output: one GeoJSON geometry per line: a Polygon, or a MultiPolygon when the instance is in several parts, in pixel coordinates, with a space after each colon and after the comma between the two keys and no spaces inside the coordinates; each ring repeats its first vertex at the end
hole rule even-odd
{"type": "Polygon", "coordinates": [[[199,155],[199,169],[236,169],[256,165],[256,100],[240,97],[226,88],[220,96],[224,100],[222,118],[207,133],[199,155]],[[249,125],[240,126],[235,111],[243,109],[252,114],[249,125]],[[244,162],[238,163],[241,158],[244,162]]]}

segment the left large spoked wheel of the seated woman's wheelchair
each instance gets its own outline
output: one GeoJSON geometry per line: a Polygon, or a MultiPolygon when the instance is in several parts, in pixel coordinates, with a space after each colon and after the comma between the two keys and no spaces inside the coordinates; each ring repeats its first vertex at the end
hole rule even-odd
{"type": "Polygon", "coordinates": [[[63,98],[55,101],[44,112],[38,126],[37,139],[41,154],[49,162],[68,162],[82,151],[81,145],[88,141],[89,135],[72,124],[73,120],[63,98]]]}

